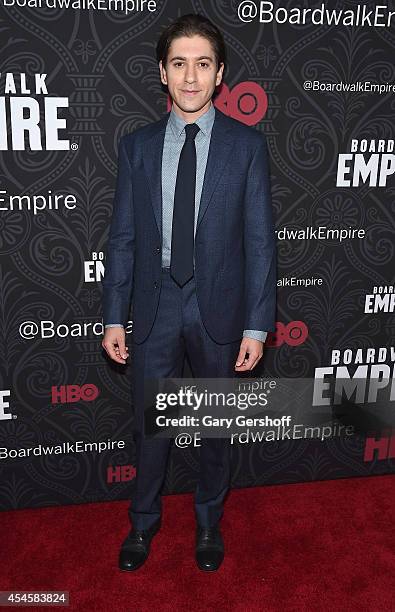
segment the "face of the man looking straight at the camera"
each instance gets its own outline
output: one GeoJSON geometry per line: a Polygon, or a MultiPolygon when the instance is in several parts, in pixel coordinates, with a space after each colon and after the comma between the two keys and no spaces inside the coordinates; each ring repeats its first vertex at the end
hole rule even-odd
{"type": "Polygon", "coordinates": [[[208,109],[223,69],[221,63],[217,71],[211,43],[199,35],[173,40],[166,67],[159,62],[161,81],[168,86],[175,110],[188,121],[208,109]]]}

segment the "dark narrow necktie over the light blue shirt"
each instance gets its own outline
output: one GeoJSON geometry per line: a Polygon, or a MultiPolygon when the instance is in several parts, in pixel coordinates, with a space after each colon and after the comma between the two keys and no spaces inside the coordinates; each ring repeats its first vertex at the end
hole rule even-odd
{"type": "Polygon", "coordinates": [[[182,287],[193,276],[195,223],[196,123],[185,125],[185,142],[178,162],[171,232],[170,274],[182,287]]]}

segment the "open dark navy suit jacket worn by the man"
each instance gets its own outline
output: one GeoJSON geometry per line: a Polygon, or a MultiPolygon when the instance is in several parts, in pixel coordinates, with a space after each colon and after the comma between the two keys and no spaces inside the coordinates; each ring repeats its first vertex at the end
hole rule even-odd
{"type": "MultiPolygon", "coordinates": [[[[143,342],[161,290],[162,149],[169,113],[122,136],[103,279],[103,323],[143,342]]],[[[195,235],[203,324],[220,344],[275,330],[276,240],[265,136],[215,108],[195,235]]]]}

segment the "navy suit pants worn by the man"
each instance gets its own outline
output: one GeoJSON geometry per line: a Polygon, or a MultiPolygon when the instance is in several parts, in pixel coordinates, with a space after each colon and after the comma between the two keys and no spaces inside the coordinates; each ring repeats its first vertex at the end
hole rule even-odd
{"type": "MultiPolygon", "coordinates": [[[[179,287],[170,276],[169,268],[162,268],[162,287],[153,327],[144,342],[132,342],[136,478],[132,482],[129,518],[135,529],[147,529],[161,516],[161,488],[171,443],[171,438],[144,437],[144,380],[181,378],[185,354],[195,378],[233,377],[241,339],[217,344],[200,317],[195,279],[179,287]]],[[[201,438],[200,444],[195,517],[199,525],[210,527],[220,520],[229,490],[230,441],[229,438],[201,438]]]]}

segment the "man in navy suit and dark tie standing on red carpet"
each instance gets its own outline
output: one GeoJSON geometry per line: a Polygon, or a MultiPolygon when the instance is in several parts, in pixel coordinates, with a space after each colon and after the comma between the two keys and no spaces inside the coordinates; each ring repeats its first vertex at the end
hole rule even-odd
{"type": "MultiPolygon", "coordinates": [[[[103,282],[103,347],[126,363],[133,305],[132,394],[136,478],[119,567],[145,562],[161,525],[169,439],[144,437],[143,383],[252,370],[274,331],[276,249],[266,140],[213,106],[225,46],[200,15],[168,26],[157,45],[172,108],[120,139],[103,282]]],[[[205,438],[195,493],[196,562],[224,556],[219,521],[230,481],[228,439],[205,438]]]]}

